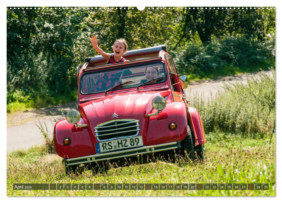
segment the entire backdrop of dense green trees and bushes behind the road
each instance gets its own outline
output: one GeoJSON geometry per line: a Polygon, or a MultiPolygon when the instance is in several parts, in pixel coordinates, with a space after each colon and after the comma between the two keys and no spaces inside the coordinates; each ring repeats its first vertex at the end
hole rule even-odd
{"type": "Polygon", "coordinates": [[[200,78],[275,65],[274,8],[7,8],[7,104],[73,93],[76,66],[97,54],[91,35],[105,52],[120,37],[129,50],[167,44],[180,72],[200,78]]]}

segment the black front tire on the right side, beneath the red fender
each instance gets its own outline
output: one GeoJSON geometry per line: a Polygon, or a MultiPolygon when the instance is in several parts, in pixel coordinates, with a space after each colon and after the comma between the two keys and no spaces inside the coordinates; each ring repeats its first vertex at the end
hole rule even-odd
{"type": "Polygon", "coordinates": [[[192,139],[190,127],[188,125],[187,125],[186,137],[181,141],[180,145],[181,145],[180,155],[182,155],[183,157],[189,157],[189,159],[194,160],[195,154],[193,148],[193,139],[192,139]]]}

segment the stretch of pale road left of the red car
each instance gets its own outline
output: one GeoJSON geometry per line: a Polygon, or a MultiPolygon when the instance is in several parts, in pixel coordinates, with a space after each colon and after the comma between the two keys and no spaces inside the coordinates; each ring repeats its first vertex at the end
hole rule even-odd
{"type": "Polygon", "coordinates": [[[44,144],[44,137],[37,125],[40,126],[41,123],[43,129],[47,129],[49,137],[52,137],[55,123],[65,118],[71,108],[76,108],[75,102],[8,114],[7,152],[44,144]]]}

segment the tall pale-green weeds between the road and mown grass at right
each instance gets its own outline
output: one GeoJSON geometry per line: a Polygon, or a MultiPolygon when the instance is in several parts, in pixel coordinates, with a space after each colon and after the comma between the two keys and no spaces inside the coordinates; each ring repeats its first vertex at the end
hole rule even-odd
{"type": "Polygon", "coordinates": [[[272,76],[249,76],[247,83],[227,83],[205,101],[195,95],[191,106],[197,108],[207,132],[222,131],[263,137],[272,133],[275,123],[275,70],[272,76]]]}

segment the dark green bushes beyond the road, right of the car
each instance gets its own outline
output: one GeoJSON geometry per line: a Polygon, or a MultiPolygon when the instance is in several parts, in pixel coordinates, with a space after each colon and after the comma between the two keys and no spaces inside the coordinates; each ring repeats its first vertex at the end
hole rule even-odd
{"type": "Polygon", "coordinates": [[[181,74],[204,78],[229,75],[232,72],[235,74],[238,71],[252,72],[274,66],[275,36],[269,35],[261,42],[243,37],[227,37],[224,40],[215,39],[206,46],[190,42],[186,50],[176,50],[173,54],[181,74]]]}

